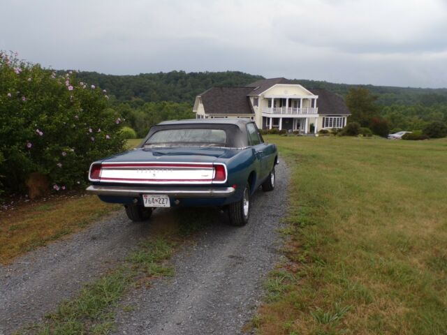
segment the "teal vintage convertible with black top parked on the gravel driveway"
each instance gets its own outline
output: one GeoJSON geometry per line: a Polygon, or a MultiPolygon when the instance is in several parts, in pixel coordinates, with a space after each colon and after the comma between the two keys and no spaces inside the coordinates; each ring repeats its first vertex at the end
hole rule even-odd
{"type": "Polygon", "coordinates": [[[250,197],[274,189],[277,147],[253,121],[193,119],[153,126],[140,145],[91,164],[87,191],[124,204],[133,221],[156,207],[217,206],[232,225],[249,221],[250,197]]]}

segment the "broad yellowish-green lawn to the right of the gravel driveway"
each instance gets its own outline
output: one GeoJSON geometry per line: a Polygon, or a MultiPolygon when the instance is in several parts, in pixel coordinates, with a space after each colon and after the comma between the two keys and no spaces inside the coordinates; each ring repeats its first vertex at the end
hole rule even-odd
{"type": "Polygon", "coordinates": [[[258,333],[447,334],[447,140],[268,140],[293,171],[290,262],[258,333]]]}

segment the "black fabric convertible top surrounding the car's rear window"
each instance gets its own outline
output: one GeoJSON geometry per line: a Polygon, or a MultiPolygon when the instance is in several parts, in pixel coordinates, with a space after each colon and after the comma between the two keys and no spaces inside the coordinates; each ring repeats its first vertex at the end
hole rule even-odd
{"type": "Polygon", "coordinates": [[[244,148],[248,147],[248,136],[246,125],[253,123],[249,119],[186,119],[163,121],[153,126],[141,147],[157,131],[165,129],[223,129],[227,133],[226,147],[244,148]]]}

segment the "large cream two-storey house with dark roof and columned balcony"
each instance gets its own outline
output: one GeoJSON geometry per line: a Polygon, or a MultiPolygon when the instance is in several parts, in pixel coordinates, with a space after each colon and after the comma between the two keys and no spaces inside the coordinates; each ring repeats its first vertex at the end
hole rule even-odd
{"type": "Polygon", "coordinates": [[[199,94],[197,119],[249,118],[258,128],[317,133],[343,128],[351,115],[343,99],[325,89],[305,89],[285,78],[264,79],[247,87],[212,87],[199,94]]]}

